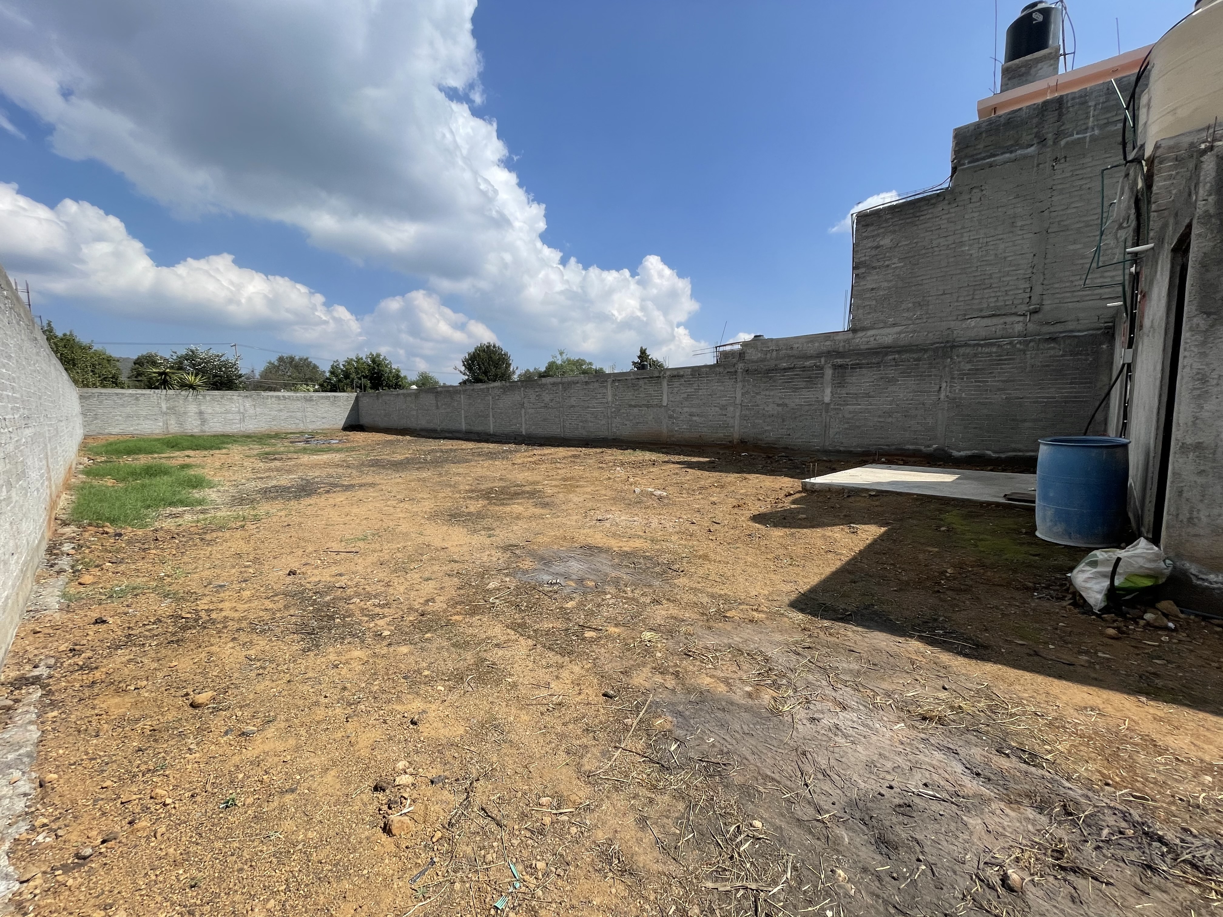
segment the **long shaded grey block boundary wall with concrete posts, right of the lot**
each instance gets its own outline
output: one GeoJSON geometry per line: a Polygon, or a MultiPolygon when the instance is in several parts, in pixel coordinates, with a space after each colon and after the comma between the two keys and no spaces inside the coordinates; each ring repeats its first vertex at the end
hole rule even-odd
{"type": "MultiPolygon", "coordinates": [[[[1033,456],[1081,433],[1112,331],[843,350],[605,375],[363,392],[372,430],[534,440],[1033,456]]],[[[835,350],[832,350],[835,347],[835,350]]]]}

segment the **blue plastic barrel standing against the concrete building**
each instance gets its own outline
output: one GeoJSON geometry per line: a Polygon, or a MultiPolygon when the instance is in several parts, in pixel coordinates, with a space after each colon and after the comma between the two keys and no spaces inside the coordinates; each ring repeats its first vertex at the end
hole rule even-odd
{"type": "Polygon", "coordinates": [[[1128,523],[1130,441],[1120,436],[1049,436],[1036,460],[1036,534],[1076,548],[1120,543],[1128,523]]]}

